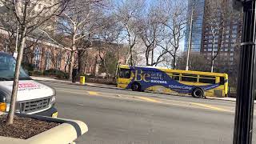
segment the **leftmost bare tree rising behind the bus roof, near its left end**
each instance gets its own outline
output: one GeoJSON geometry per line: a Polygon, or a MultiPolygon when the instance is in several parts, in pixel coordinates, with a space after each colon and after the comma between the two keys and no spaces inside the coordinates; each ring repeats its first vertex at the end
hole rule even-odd
{"type": "Polygon", "coordinates": [[[117,2],[115,14],[118,22],[122,24],[123,34],[126,35],[126,41],[128,42],[126,64],[130,62],[130,66],[134,65],[133,49],[138,41],[138,18],[142,14],[144,4],[144,0],[122,0],[117,2]]]}

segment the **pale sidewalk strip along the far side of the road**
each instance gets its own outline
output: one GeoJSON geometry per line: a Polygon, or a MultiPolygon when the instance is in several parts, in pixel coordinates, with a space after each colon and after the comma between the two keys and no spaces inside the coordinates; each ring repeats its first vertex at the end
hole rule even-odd
{"type": "MultiPolygon", "coordinates": [[[[46,78],[46,77],[33,77],[31,76],[30,78],[33,78],[34,80],[38,81],[46,81],[46,82],[60,82],[60,83],[68,83],[68,84],[73,84],[77,86],[83,86],[79,82],[70,82],[67,80],[58,80],[54,78],[46,78]]],[[[94,87],[101,87],[101,88],[110,88],[110,89],[116,89],[116,90],[122,90],[116,86],[112,85],[105,85],[105,84],[100,84],[100,83],[92,83],[92,82],[86,82],[84,86],[94,86],[94,87]]],[[[216,99],[216,100],[222,100],[222,101],[230,101],[230,102],[236,102],[236,98],[216,98],[216,97],[207,97],[206,99],[216,99]]],[[[256,103],[256,101],[254,101],[256,103]]]]}

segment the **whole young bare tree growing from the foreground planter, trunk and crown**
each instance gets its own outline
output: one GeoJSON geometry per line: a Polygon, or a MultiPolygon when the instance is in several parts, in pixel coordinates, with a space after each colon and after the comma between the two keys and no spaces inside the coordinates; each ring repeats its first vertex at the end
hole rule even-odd
{"type": "MultiPolygon", "coordinates": [[[[50,1],[45,2],[42,7],[38,7],[42,0],[35,1],[6,1],[1,0],[2,5],[10,12],[9,16],[14,18],[14,22],[18,23],[20,27],[20,41],[18,42],[18,58],[15,66],[13,91],[11,94],[10,110],[8,114],[7,123],[12,124],[14,121],[15,102],[18,92],[18,79],[20,73],[20,66],[22,63],[23,49],[28,34],[34,32],[38,27],[42,26],[45,22],[54,18],[55,15],[62,13],[66,7],[67,1],[50,1]]],[[[6,17],[6,14],[2,14],[6,17]]]]}

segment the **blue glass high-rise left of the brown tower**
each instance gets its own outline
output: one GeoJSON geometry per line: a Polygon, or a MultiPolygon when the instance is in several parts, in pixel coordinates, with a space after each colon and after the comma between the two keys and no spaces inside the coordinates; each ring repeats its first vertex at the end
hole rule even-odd
{"type": "MultiPolygon", "coordinates": [[[[201,41],[202,41],[202,26],[203,26],[203,16],[205,0],[189,0],[189,8],[187,12],[187,17],[190,19],[192,15],[192,10],[194,10],[192,18],[192,34],[191,34],[191,47],[190,51],[200,52],[201,41]]],[[[186,25],[186,36],[185,36],[185,46],[184,51],[188,50],[190,38],[190,22],[186,25]]]]}

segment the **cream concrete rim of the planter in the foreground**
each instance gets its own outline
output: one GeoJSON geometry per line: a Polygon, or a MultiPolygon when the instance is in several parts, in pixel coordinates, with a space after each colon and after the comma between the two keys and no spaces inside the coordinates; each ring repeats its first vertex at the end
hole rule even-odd
{"type": "Polygon", "coordinates": [[[82,134],[88,131],[88,127],[84,122],[63,119],[63,118],[50,118],[38,115],[30,114],[16,114],[19,117],[24,118],[34,118],[47,122],[58,122],[61,123],[58,126],[50,130],[46,130],[40,134],[37,134],[31,138],[19,139],[19,138],[9,138],[0,136],[0,143],[8,144],[69,144],[73,143],[82,134]]]}

